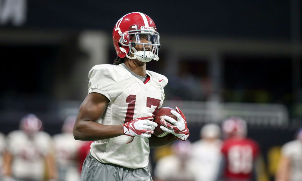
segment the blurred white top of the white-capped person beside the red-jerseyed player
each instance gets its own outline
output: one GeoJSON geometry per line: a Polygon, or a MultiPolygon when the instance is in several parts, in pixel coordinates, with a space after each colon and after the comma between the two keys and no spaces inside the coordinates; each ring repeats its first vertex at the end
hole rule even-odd
{"type": "Polygon", "coordinates": [[[192,144],[192,160],[195,162],[196,181],[214,181],[219,172],[222,141],[195,141],[192,144]]]}

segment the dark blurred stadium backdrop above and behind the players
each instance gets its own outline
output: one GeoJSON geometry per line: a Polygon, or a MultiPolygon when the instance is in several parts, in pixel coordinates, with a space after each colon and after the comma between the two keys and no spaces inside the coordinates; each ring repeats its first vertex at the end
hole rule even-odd
{"type": "Polygon", "coordinates": [[[115,23],[138,11],[160,34],[160,59],[147,69],[169,79],[164,106],[182,109],[191,142],[204,124],[241,116],[272,177],[271,148],[302,125],[301,4],[0,0],[0,132],[34,113],[46,132],[60,133],[87,95],[90,68],[116,58],[115,23]]]}

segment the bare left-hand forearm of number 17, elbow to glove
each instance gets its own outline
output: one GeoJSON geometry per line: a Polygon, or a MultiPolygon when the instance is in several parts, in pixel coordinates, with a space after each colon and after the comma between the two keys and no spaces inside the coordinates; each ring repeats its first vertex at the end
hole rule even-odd
{"type": "Polygon", "coordinates": [[[82,141],[103,140],[123,134],[123,125],[103,125],[87,120],[77,123],[73,130],[74,138],[82,141]]]}

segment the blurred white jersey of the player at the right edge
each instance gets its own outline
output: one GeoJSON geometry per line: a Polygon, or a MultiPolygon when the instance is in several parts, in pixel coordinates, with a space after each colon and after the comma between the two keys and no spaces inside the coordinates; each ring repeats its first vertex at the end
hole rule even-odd
{"type": "Polygon", "coordinates": [[[300,181],[302,178],[302,141],[294,140],[283,145],[282,155],[290,159],[290,181],[300,181]]]}

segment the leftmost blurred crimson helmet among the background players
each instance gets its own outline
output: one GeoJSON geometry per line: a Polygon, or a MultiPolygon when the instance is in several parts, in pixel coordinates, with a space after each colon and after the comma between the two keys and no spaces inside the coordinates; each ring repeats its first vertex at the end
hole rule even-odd
{"type": "Polygon", "coordinates": [[[27,114],[21,119],[20,129],[27,134],[32,134],[42,129],[42,121],[34,114],[27,114]]]}

